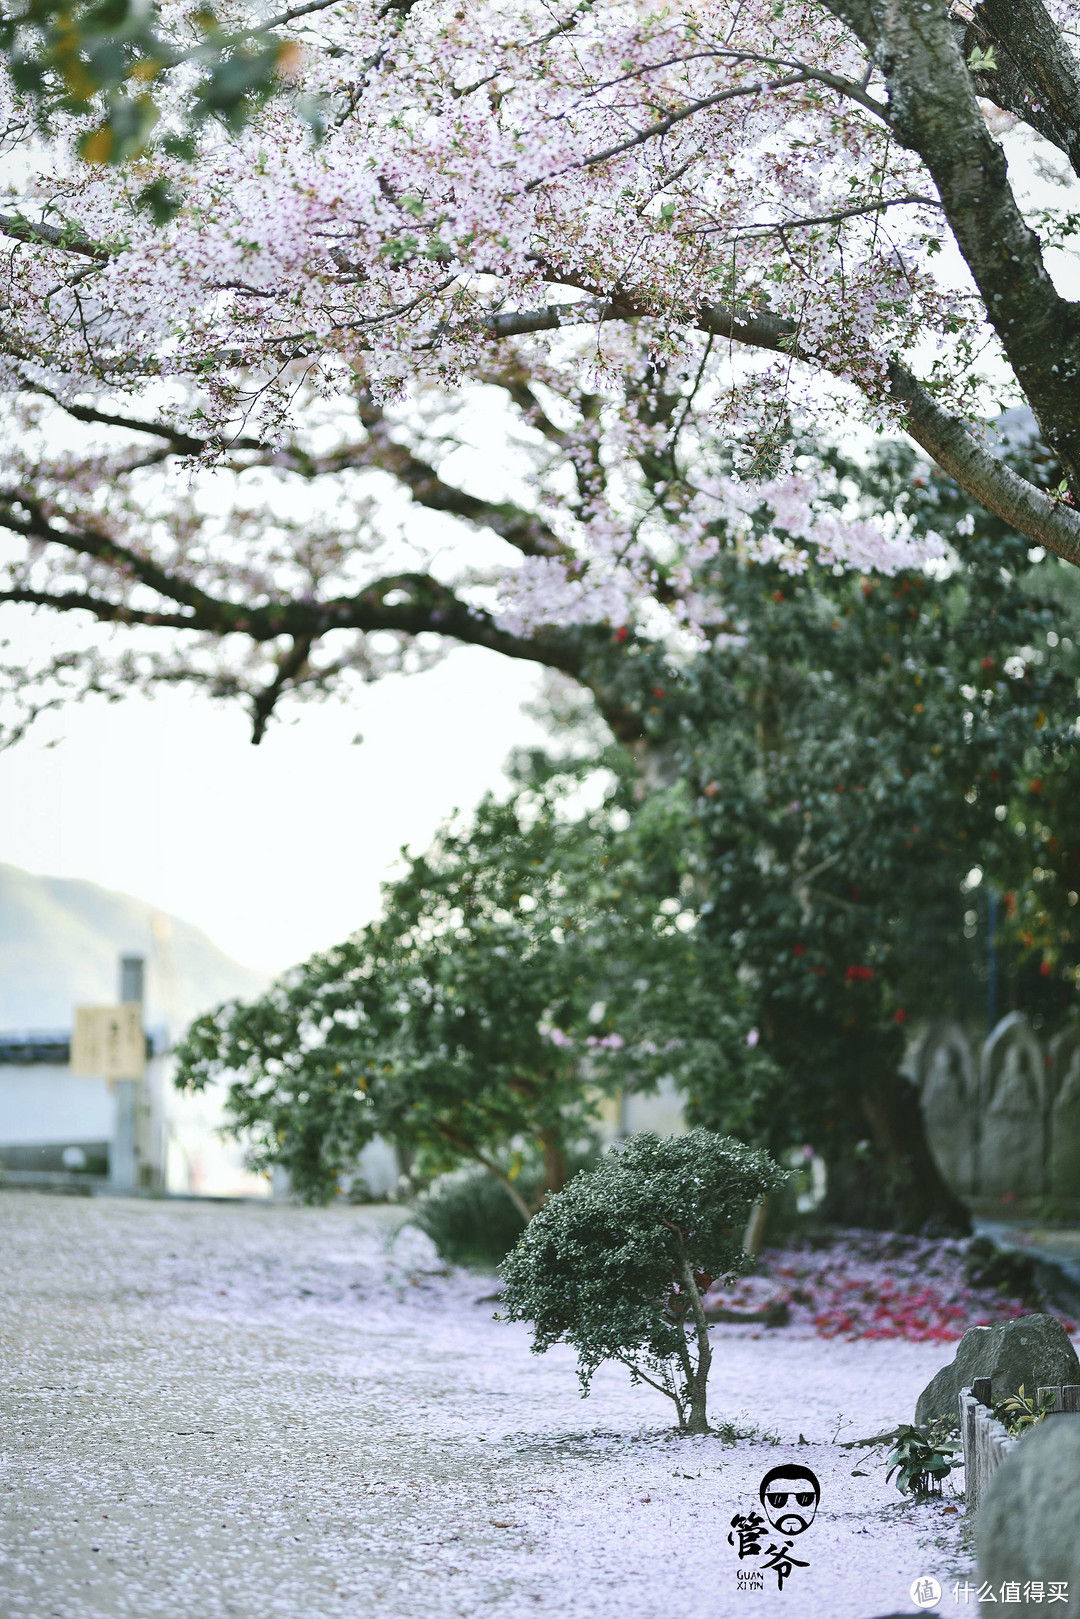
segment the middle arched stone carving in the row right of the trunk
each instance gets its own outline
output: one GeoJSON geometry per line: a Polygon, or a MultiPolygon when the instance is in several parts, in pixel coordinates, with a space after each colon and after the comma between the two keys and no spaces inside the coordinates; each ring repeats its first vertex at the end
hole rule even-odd
{"type": "Polygon", "coordinates": [[[1046,1067],[1022,1012],[1002,1018],[983,1046],[980,1099],[980,1195],[1041,1196],[1046,1185],[1046,1067]]]}

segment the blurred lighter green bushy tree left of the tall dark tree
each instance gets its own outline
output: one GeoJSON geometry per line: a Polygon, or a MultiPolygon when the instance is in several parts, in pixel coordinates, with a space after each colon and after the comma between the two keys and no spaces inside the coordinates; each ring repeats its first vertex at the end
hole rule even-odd
{"type": "MultiPolygon", "coordinates": [[[[528,1221],[565,1183],[601,1099],[659,1077],[606,1060],[649,983],[695,986],[693,1049],[709,1028],[725,1033],[746,1059],[727,1065],[729,1090],[753,1090],[767,1064],[746,1047],[748,1023],[735,1031],[714,954],[675,926],[665,874],[636,881],[638,850],[620,847],[610,806],[567,814],[572,785],[486,800],[387,884],[379,921],[191,1026],[176,1085],[228,1078],[230,1127],[253,1167],[288,1169],[301,1196],[321,1200],[381,1133],[421,1179],[483,1166],[528,1221]],[[542,1174],[521,1175],[533,1158],[542,1174]]],[[[654,1052],[682,1049],[682,994],[646,1025],[633,1015],[633,1028],[654,1052]]]]}

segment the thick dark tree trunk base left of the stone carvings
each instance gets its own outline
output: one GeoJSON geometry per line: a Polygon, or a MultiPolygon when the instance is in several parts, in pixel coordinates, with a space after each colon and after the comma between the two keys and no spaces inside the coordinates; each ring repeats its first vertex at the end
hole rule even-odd
{"type": "Polygon", "coordinates": [[[967,1235],[972,1216],[934,1162],[912,1081],[882,1069],[865,1081],[858,1104],[870,1151],[827,1159],[826,1216],[844,1226],[967,1235]]]}

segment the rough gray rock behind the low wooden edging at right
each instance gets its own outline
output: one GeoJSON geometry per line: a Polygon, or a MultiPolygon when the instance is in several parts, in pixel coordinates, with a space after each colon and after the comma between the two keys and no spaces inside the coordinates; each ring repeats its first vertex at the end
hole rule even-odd
{"type": "Polygon", "coordinates": [[[1054,1383],[1080,1383],[1080,1360],[1054,1316],[1030,1315],[996,1326],[970,1326],[955,1360],[920,1394],[915,1421],[955,1417],[957,1394],[975,1378],[991,1378],[991,1396],[999,1400],[1015,1394],[1022,1383],[1027,1394],[1054,1383]]]}

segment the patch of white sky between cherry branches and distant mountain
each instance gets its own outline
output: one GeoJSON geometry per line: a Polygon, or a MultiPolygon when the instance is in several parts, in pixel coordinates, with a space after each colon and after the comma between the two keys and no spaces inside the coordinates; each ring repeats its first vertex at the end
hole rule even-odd
{"type": "Polygon", "coordinates": [[[134,894],[277,971],[377,911],[402,843],[505,785],[510,748],[539,738],[521,714],[538,683],[531,664],[461,648],[350,704],[293,709],[257,748],[240,706],[87,703],[0,753],[0,861],[134,894]]]}

